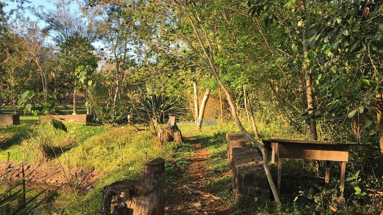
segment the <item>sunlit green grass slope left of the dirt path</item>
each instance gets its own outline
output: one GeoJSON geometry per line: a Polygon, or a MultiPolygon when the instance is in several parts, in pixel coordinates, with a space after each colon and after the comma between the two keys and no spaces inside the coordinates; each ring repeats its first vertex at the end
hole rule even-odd
{"type": "MultiPolygon", "coordinates": [[[[12,113],[11,107],[3,107],[3,112],[12,113]]],[[[31,153],[31,146],[36,132],[42,132],[37,119],[30,114],[24,116],[20,112],[20,125],[2,125],[2,149],[0,161],[9,159],[15,163],[26,162],[38,165],[31,153]],[[32,135],[30,135],[32,134],[32,135]]],[[[68,132],[54,131],[50,125],[45,125],[46,135],[52,142],[58,159],[64,163],[64,155],[71,167],[97,169],[100,171],[95,189],[88,194],[80,194],[75,198],[65,189],[59,191],[57,201],[66,202],[65,213],[68,215],[95,215],[100,213],[101,195],[104,186],[115,181],[137,179],[142,165],[155,158],[165,159],[165,187],[177,178],[180,169],[190,163],[194,147],[188,143],[167,143],[157,148],[153,143],[150,132],[135,132],[133,127],[108,127],[66,123],[68,132]],[[116,138],[116,139],[115,139],[116,138]],[[123,161],[120,164],[119,139],[123,161]],[[60,147],[61,146],[61,147],[60,147]],[[63,151],[61,151],[63,148],[63,151]],[[147,153],[145,159],[144,153],[147,153]]],[[[32,145],[33,146],[33,145],[32,145]]],[[[47,165],[58,165],[58,160],[52,157],[47,165]]],[[[57,213],[61,213],[58,211],[57,213]]]]}

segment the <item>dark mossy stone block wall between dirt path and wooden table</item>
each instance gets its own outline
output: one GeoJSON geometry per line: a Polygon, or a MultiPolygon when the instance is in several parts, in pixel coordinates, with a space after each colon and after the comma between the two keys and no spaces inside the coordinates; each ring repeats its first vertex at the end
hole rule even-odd
{"type": "Polygon", "coordinates": [[[242,133],[228,133],[226,139],[238,206],[250,208],[270,200],[270,185],[260,153],[242,133]]]}

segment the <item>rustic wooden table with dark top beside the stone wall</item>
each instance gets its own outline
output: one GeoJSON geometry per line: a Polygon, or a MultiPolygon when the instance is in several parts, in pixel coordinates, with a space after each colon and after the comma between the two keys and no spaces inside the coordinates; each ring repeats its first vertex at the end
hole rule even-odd
{"type": "Polygon", "coordinates": [[[272,148],[272,166],[275,165],[275,155],[278,156],[278,194],[280,194],[281,187],[282,158],[296,158],[326,161],[326,186],[329,184],[330,161],[340,161],[340,198],[343,198],[346,162],[349,161],[349,147],[350,145],[360,146],[360,144],[285,139],[267,139],[262,142],[267,148],[272,148]]]}

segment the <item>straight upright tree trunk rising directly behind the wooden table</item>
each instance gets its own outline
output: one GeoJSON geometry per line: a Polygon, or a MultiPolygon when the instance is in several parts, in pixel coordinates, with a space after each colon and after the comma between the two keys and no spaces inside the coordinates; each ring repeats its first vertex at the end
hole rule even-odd
{"type": "MultiPolygon", "coordinates": [[[[306,10],[306,6],[304,5],[304,0],[301,0],[301,9],[304,11],[306,10]]],[[[303,46],[303,54],[306,54],[308,50],[306,49],[306,28],[305,28],[305,22],[302,23],[302,46],[303,46]]],[[[313,98],[313,77],[310,72],[309,66],[305,69],[305,77],[306,77],[306,95],[307,95],[307,108],[311,109],[308,111],[309,114],[313,114],[315,107],[314,107],[314,98],[313,98]]],[[[315,119],[310,119],[310,124],[308,125],[308,132],[309,132],[309,138],[310,140],[318,140],[318,134],[316,131],[316,121],[315,119]]]]}

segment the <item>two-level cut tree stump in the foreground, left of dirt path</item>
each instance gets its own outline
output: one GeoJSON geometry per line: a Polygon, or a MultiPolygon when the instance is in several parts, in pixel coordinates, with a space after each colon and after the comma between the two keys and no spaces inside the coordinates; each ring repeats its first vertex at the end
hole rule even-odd
{"type": "Polygon", "coordinates": [[[165,160],[144,164],[138,181],[118,181],[104,187],[101,215],[163,215],[165,160]]]}

